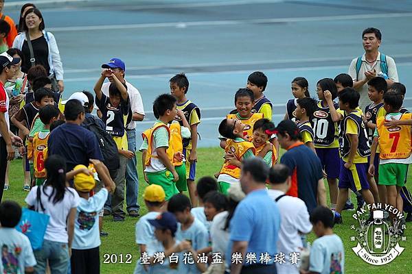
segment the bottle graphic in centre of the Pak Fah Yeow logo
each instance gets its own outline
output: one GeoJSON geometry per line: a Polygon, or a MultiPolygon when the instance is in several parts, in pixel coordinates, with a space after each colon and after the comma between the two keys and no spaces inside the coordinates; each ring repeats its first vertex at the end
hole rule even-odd
{"type": "Polygon", "coordinates": [[[383,220],[383,211],[374,211],[374,221],[367,227],[367,248],[369,253],[387,253],[389,249],[389,227],[383,220]]]}

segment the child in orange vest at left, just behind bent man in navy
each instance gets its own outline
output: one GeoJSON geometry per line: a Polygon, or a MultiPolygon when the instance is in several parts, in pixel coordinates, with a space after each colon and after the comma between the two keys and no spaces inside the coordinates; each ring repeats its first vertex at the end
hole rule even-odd
{"type": "Polygon", "coordinates": [[[44,128],[34,134],[32,142],[27,147],[27,158],[33,161],[36,186],[41,186],[46,179],[45,160],[47,158],[47,140],[50,135],[50,125],[58,119],[60,111],[55,105],[45,105],[38,112],[44,128]]]}

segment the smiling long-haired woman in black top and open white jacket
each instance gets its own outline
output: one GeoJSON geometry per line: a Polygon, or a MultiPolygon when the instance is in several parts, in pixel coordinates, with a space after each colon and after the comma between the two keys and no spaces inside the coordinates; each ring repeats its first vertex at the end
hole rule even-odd
{"type": "Polygon", "coordinates": [[[49,72],[54,91],[62,92],[65,88],[63,67],[54,35],[45,32],[45,22],[40,10],[36,8],[27,10],[24,19],[24,32],[16,36],[13,42],[13,47],[20,49],[25,57],[21,71],[27,73],[30,67],[41,64],[49,72]]]}

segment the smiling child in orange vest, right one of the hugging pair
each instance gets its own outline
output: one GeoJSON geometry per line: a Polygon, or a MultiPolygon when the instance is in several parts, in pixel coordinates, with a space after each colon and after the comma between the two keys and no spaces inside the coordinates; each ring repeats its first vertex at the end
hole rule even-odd
{"type": "Polygon", "coordinates": [[[275,146],[269,142],[273,134],[275,134],[275,125],[268,119],[259,119],[253,125],[252,143],[255,147],[255,156],[262,158],[268,166],[273,166],[277,162],[275,146]]]}

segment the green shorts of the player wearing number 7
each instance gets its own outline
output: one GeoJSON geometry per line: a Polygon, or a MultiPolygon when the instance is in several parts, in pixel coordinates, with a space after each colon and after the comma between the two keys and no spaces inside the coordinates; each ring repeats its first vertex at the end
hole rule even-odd
{"type": "Polygon", "coordinates": [[[404,186],[408,173],[408,164],[380,164],[379,184],[385,186],[404,186]]]}

